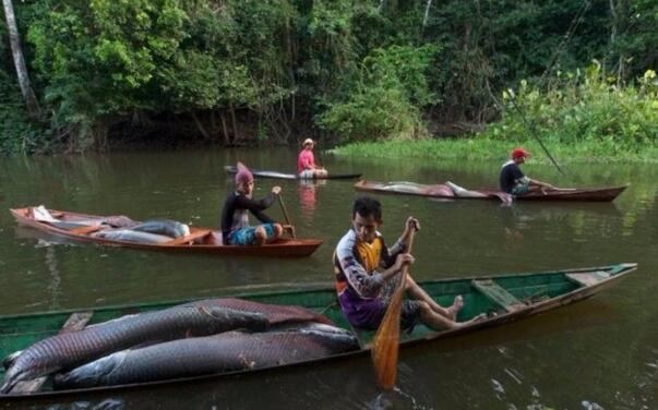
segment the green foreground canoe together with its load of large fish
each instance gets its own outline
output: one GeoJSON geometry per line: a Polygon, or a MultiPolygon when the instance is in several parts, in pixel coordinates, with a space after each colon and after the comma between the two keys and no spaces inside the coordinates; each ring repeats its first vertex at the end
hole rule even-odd
{"type": "MultiPolygon", "coordinates": [[[[448,304],[458,294],[464,297],[459,322],[481,314],[486,314],[486,318],[444,331],[418,325],[400,335],[400,347],[483,330],[565,306],[594,296],[636,268],[637,264],[623,263],[422,281],[419,285],[440,304],[448,304]]],[[[271,377],[272,372],[292,367],[313,366],[316,371],[326,362],[358,359],[367,363],[369,360],[374,331],[350,327],[332,286],[227,296],[230,298],[0,316],[0,355],[8,358],[4,361],[8,369],[0,370],[5,391],[0,395],[0,403],[75,398],[83,394],[88,397],[94,393],[116,394],[118,389],[129,388],[146,390],[210,379],[222,383],[247,374],[262,373],[271,377]],[[199,311],[176,311],[190,308],[199,311]],[[214,321],[217,314],[207,317],[214,309],[229,310],[224,316],[229,325],[216,327],[227,331],[204,335],[191,330],[193,334],[186,338],[170,340],[176,335],[168,336],[169,340],[163,342],[144,336],[144,326],[159,328],[163,323],[171,326],[171,322],[178,323],[182,316],[193,322],[199,315],[203,321],[214,321]],[[160,315],[148,315],[149,312],[160,312],[160,315]],[[145,316],[140,317],[143,314],[145,316]],[[71,333],[77,336],[65,336],[71,333]],[[117,335],[129,335],[125,337],[131,338],[130,343],[136,346],[125,350],[127,343],[118,341],[117,335]],[[99,337],[113,343],[111,348],[108,342],[99,342],[99,337]],[[99,343],[103,352],[97,349],[99,343]],[[80,351],[86,354],[84,359],[75,355],[75,359],[62,360],[64,353],[80,351]],[[22,355],[25,359],[21,359],[22,355]],[[16,365],[21,367],[14,367],[16,365]],[[35,367],[31,367],[33,365],[35,367]],[[19,374],[26,376],[16,376],[19,374]],[[31,377],[36,377],[38,383],[31,377]],[[23,387],[25,385],[27,387],[23,387]]],[[[183,327],[175,326],[179,336],[183,327]]]]}

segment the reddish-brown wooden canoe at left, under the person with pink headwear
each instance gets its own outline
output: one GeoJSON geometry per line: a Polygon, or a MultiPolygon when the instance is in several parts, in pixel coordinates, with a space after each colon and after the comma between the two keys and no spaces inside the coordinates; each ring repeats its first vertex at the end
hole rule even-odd
{"type": "MultiPolygon", "coordinates": [[[[76,241],[95,242],[105,245],[135,248],[142,250],[157,250],[171,252],[191,252],[191,253],[214,253],[219,255],[241,255],[241,256],[309,256],[322,244],[320,239],[287,239],[282,238],[273,243],[267,243],[261,246],[249,245],[224,245],[217,244],[217,238],[220,238],[219,231],[213,231],[210,228],[190,227],[188,237],[172,239],[170,242],[152,244],[152,243],[135,243],[128,241],[116,241],[109,239],[95,238],[92,236],[94,226],[85,228],[65,229],[62,225],[53,226],[49,222],[36,220],[32,217],[33,207],[10,209],[19,225],[31,227],[39,231],[72,239],[76,241]]],[[[48,209],[52,216],[59,220],[70,222],[70,227],[74,227],[76,221],[88,224],[89,221],[101,221],[107,217],[98,215],[77,214],[65,210],[48,209]]],[[[69,228],[69,227],[67,227],[69,228]]]]}

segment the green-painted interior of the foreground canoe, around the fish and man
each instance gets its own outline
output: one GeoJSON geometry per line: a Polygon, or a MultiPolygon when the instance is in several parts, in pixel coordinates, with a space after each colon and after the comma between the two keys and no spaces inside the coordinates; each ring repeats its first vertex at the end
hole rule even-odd
{"type": "MultiPolygon", "coordinates": [[[[471,277],[433,280],[421,282],[420,285],[441,305],[451,304],[456,296],[462,294],[464,297],[465,306],[459,313],[459,321],[469,319],[480,313],[487,313],[490,317],[499,316],[500,318],[504,318],[506,316],[513,316],[513,314],[505,315],[505,313],[509,312],[505,311],[504,306],[497,303],[494,301],[495,299],[492,299],[490,296],[483,294],[481,290],[478,290],[477,287],[474,286],[474,280],[488,281],[491,286],[505,293],[507,298],[515,299],[517,302],[523,303],[524,309],[522,309],[522,312],[531,314],[591,296],[594,293],[590,291],[591,289],[596,289],[599,285],[610,282],[635,268],[636,264],[620,264],[539,274],[510,274],[488,278],[471,277]],[[545,309],[538,309],[541,305],[543,305],[545,309]]],[[[230,296],[263,303],[306,306],[315,312],[323,313],[337,326],[351,329],[340,313],[335,291],[331,287],[301,291],[234,293],[230,296]]],[[[74,312],[93,311],[94,314],[89,324],[95,324],[127,314],[160,310],[187,301],[189,300],[3,316],[0,317],[0,357],[3,359],[10,353],[23,350],[36,341],[56,335],[69,316],[74,312]]],[[[495,322],[495,319],[486,322],[495,322]]],[[[361,346],[367,348],[372,341],[374,331],[360,330],[358,335],[361,346]]],[[[436,335],[442,335],[442,333],[435,333],[419,325],[416,326],[410,334],[403,334],[400,341],[414,342],[426,338],[433,338],[436,337],[436,335]]],[[[2,367],[0,369],[0,381],[3,379],[4,369],[2,367]]],[[[45,386],[45,389],[47,388],[48,387],[45,386]]]]}

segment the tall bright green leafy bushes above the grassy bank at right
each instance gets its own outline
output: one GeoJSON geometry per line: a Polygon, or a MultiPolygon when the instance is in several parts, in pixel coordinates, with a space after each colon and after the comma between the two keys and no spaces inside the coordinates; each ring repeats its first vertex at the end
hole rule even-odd
{"type": "Polygon", "coordinates": [[[639,85],[623,86],[599,64],[561,74],[545,93],[522,82],[503,94],[503,118],[483,136],[509,141],[531,133],[554,145],[605,146],[611,154],[637,153],[658,143],[658,82],[647,71],[639,85]]]}

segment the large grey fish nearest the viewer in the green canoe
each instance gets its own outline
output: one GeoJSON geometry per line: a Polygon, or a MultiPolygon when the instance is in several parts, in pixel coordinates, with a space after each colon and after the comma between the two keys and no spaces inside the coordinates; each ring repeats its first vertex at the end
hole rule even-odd
{"type": "Polygon", "coordinates": [[[56,388],[85,388],[192,377],[324,358],[359,348],[338,327],[223,335],[168,341],[124,350],[56,376],[56,388]]]}

